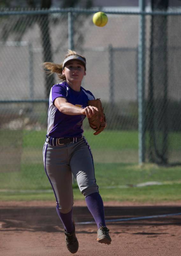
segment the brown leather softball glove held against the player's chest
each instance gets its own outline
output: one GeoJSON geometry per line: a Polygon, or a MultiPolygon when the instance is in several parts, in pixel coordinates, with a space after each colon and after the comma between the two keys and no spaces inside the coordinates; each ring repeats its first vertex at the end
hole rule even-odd
{"type": "Polygon", "coordinates": [[[94,106],[98,108],[98,111],[96,111],[96,113],[91,118],[88,118],[90,127],[95,130],[94,135],[98,135],[104,130],[106,126],[104,108],[102,107],[100,99],[89,100],[88,106],[94,106]]]}

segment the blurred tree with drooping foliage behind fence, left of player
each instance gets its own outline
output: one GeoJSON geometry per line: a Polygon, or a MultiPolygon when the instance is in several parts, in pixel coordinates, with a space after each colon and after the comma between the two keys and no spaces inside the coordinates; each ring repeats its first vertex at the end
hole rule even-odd
{"type": "MultiPolygon", "coordinates": [[[[0,8],[30,8],[33,9],[49,9],[52,6],[53,0],[1,0],[0,8]]],[[[92,0],[62,0],[60,1],[61,8],[69,8],[69,7],[84,7],[90,8],[92,6],[92,0]]],[[[74,14],[74,18],[76,18],[77,28],[75,29],[76,37],[77,37],[77,45],[82,45],[83,43],[83,33],[80,29],[82,26],[82,18],[81,15],[74,14]]],[[[35,19],[34,15],[17,15],[11,21],[4,22],[2,26],[1,40],[7,41],[9,36],[13,36],[15,41],[21,41],[25,32],[32,27],[35,23],[39,24],[40,33],[41,33],[41,42],[43,49],[43,62],[52,62],[53,61],[53,52],[52,52],[52,44],[51,37],[49,31],[49,15],[42,14],[37,15],[37,19],[35,19]]],[[[54,23],[59,24],[59,20],[55,19],[54,23]]],[[[66,29],[67,37],[68,31],[66,29]]],[[[60,42],[63,45],[64,42],[60,42]]],[[[62,45],[58,45],[57,49],[60,49],[62,45]]],[[[46,97],[49,97],[50,89],[54,84],[54,76],[48,76],[44,73],[45,76],[45,88],[46,88],[46,97]]]]}

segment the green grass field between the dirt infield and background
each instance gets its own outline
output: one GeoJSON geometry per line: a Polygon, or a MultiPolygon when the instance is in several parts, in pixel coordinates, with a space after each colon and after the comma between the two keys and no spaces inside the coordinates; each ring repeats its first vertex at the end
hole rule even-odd
{"type": "MultiPolygon", "coordinates": [[[[19,170],[0,172],[0,200],[54,200],[43,167],[45,134],[46,131],[23,131],[19,170]]],[[[105,131],[94,136],[91,130],[87,130],[85,136],[91,145],[96,180],[105,201],[180,200],[181,166],[164,167],[148,163],[139,166],[136,131],[105,131]],[[153,182],[153,185],[138,186],[145,182],[153,182]],[[161,185],[154,185],[154,182],[161,185]]],[[[179,140],[177,134],[173,134],[173,140],[179,140]]],[[[76,184],[74,199],[84,200],[76,184]]]]}

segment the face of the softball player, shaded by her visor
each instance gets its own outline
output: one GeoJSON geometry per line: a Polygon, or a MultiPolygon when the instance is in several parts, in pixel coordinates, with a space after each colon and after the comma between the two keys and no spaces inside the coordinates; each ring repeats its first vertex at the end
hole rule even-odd
{"type": "Polygon", "coordinates": [[[69,82],[81,82],[86,72],[81,62],[70,61],[65,65],[62,74],[65,75],[66,80],[69,82]]]}

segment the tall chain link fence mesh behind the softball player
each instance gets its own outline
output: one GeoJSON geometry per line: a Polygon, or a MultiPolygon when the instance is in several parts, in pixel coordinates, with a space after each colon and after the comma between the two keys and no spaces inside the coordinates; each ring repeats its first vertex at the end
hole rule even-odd
{"type": "MultiPolygon", "coordinates": [[[[92,23],[92,15],[93,12],[72,10],[22,11],[16,15],[12,11],[11,15],[0,16],[2,188],[6,189],[7,182],[14,179],[13,188],[27,189],[33,175],[36,178],[32,184],[37,182],[40,189],[49,186],[44,185],[38,170],[44,168],[47,98],[50,87],[59,80],[56,76],[47,77],[41,63],[62,62],[70,47],[87,60],[82,86],[101,98],[105,106],[108,126],[102,138],[104,145],[117,140],[120,143],[120,147],[103,151],[101,140],[92,136],[89,142],[94,161],[138,163],[140,15],[110,12],[109,21],[102,28],[92,23]],[[16,174],[11,176],[12,172],[16,174]],[[22,184],[24,172],[27,183],[22,184]]],[[[154,30],[158,20],[153,17],[157,16],[145,15],[146,161],[175,164],[180,162],[181,153],[181,13],[164,16],[166,23],[162,16],[161,34],[154,30]],[[153,41],[153,33],[157,41],[153,41]]],[[[86,121],[84,128],[86,134],[92,133],[86,121]]]]}

